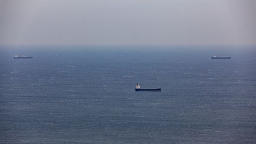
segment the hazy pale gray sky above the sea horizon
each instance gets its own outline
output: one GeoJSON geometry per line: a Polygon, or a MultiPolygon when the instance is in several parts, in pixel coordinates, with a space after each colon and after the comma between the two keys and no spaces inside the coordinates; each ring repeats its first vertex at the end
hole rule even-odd
{"type": "Polygon", "coordinates": [[[0,0],[0,44],[256,44],[256,1],[0,0]]]}

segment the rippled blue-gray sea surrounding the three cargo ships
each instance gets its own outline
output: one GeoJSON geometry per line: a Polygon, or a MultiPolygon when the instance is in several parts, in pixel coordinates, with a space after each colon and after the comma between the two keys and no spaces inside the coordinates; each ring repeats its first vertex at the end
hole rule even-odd
{"type": "Polygon", "coordinates": [[[255,64],[243,46],[2,46],[0,143],[256,143],[255,64]]]}

